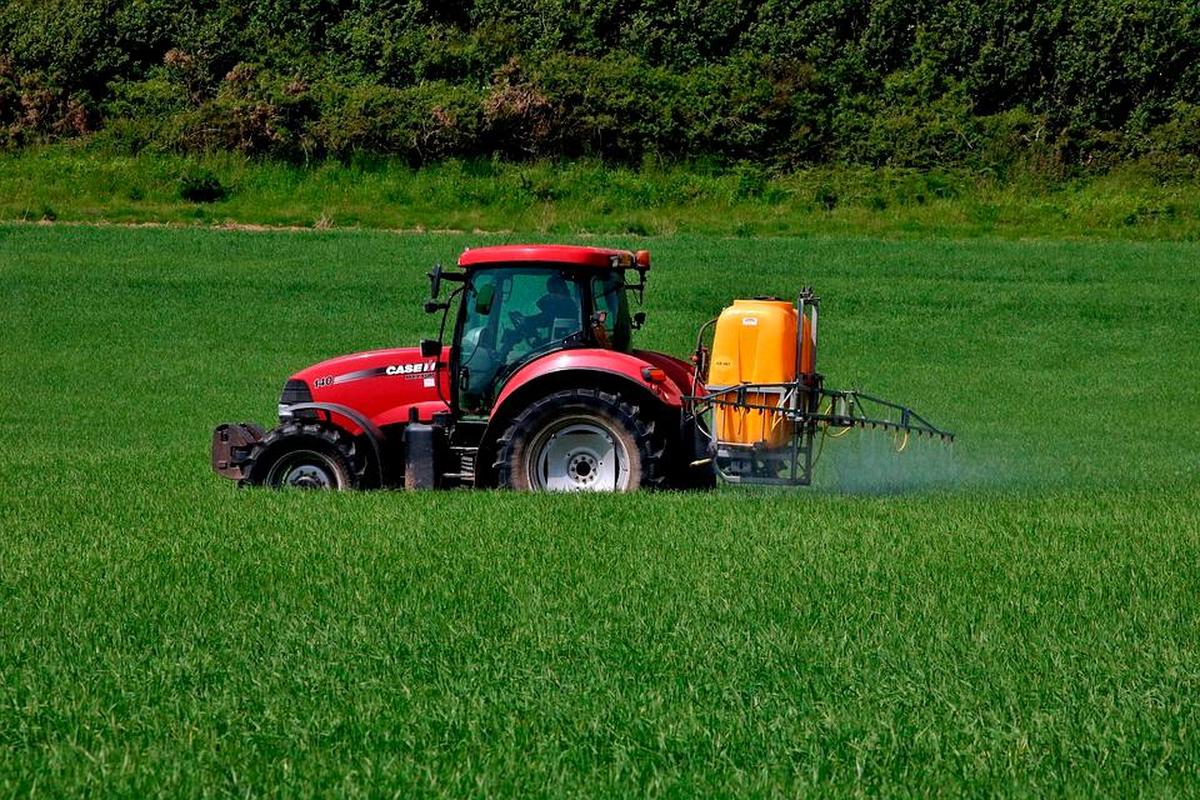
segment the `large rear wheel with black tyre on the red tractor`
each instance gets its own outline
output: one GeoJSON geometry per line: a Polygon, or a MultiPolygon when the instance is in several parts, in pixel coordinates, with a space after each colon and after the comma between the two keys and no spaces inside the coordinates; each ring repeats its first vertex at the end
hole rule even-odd
{"type": "Polygon", "coordinates": [[[642,420],[640,410],[618,395],[593,389],[558,391],[532,403],[497,441],[498,485],[522,491],[659,488],[662,441],[654,422],[642,420]],[[564,463],[560,474],[550,477],[545,464],[552,457],[556,432],[563,433],[564,440],[570,435],[606,437],[613,463],[605,465],[602,456],[598,462],[586,449],[553,453],[556,462],[562,457],[564,463]],[[606,469],[613,471],[611,485],[606,469]]]}

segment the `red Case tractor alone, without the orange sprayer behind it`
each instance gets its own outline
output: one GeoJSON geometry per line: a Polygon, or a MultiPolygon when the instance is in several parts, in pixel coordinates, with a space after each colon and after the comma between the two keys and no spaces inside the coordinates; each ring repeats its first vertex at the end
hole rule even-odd
{"type": "Polygon", "coordinates": [[[430,273],[426,311],[446,313],[449,345],[426,339],[298,372],[274,431],[217,428],[217,473],[336,489],[713,482],[691,467],[703,457],[695,437],[680,434],[692,365],[632,347],[644,314],[630,313],[628,295],[644,289],[649,253],[481,247],[458,266],[430,273]],[[458,287],[438,301],[445,282],[458,287]]]}

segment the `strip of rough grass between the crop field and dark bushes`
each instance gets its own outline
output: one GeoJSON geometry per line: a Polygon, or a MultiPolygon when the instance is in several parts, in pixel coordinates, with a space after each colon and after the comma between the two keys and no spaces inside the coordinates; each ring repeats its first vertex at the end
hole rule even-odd
{"type": "Polygon", "coordinates": [[[396,160],[307,167],[229,154],[114,155],[61,144],[0,154],[0,219],[222,225],[523,230],[556,235],[716,234],[1200,239],[1200,180],[1152,164],[1045,181],[962,172],[755,167],[643,169],[590,162],[396,160]],[[191,203],[185,176],[222,199],[191,203]]]}

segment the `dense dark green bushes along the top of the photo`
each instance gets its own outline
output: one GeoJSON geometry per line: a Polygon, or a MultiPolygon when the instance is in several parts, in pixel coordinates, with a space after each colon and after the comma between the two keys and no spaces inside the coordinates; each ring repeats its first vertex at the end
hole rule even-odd
{"type": "Polygon", "coordinates": [[[1200,156],[1195,0],[4,0],[0,139],[1064,170],[1200,156]]]}

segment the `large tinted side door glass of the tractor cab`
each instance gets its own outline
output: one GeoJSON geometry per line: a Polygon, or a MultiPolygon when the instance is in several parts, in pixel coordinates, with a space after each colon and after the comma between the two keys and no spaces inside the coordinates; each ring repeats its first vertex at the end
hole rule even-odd
{"type": "Polygon", "coordinates": [[[583,330],[580,285],[557,267],[475,271],[464,290],[460,404],[486,411],[496,387],[532,354],[583,330]]]}

